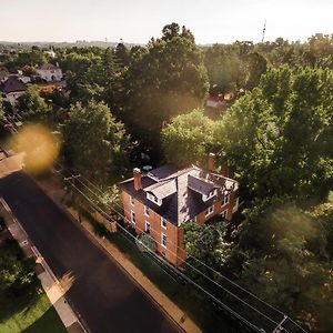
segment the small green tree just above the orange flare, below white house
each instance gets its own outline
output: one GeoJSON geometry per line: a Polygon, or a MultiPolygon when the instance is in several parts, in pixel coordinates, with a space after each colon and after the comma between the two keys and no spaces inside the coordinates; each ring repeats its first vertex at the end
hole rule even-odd
{"type": "Polygon", "coordinates": [[[48,121],[51,113],[51,109],[33,85],[28,87],[26,93],[18,99],[18,109],[26,121],[48,121]]]}

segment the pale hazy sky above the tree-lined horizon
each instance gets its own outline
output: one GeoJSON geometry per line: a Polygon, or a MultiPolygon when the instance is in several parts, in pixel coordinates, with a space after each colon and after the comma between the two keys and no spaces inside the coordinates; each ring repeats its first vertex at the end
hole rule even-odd
{"type": "Polygon", "coordinates": [[[305,40],[333,33],[333,0],[0,0],[0,41],[104,40],[145,43],[164,24],[198,43],[305,40]]]}

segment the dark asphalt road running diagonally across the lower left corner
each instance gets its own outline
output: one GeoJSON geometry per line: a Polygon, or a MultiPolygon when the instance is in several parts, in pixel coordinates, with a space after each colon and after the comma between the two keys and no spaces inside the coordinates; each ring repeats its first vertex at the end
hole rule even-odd
{"type": "Polygon", "coordinates": [[[7,201],[91,332],[179,332],[133,281],[26,174],[0,180],[7,201]]]}

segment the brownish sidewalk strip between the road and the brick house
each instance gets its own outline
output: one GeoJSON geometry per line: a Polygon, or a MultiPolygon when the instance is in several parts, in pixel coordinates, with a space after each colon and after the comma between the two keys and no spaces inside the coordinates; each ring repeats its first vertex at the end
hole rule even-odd
{"type": "MultiPolygon", "coordinates": [[[[37,181],[40,188],[60,206],[67,210],[75,220],[78,213],[63,204],[67,193],[60,186],[60,181],[56,175],[49,180],[37,181]]],[[[78,222],[79,223],[79,222],[78,222]]],[[[165,313],[185,332],[199,333],[200,327],[164,293],[162,293],[119,249],[108,240],[98,238],[91,224],[81,218],[81,228],[87,231],[90,239],[98,243],[115,262],[132,276],[134,281],[150,295],[150,297],[161,306],[165,313]]]]}

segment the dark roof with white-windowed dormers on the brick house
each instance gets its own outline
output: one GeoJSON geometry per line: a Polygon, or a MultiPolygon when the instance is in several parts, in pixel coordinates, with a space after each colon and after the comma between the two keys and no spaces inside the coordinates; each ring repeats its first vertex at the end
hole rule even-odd
{"type": "Polygon", "coordinates": [[[182,170],[163,165],[142,174],[141,182],[139,191],[134,189],[133,178],[121,182],[120,188],[176,226],[239,188],[236,181],[194,165],[182,170]],[[213,190],[216,195],[203,201],[202,194],[208,195],[213,190]],[[162,204],[149,200],[147,193],[162,200],[162,204]]]}

